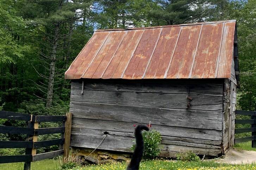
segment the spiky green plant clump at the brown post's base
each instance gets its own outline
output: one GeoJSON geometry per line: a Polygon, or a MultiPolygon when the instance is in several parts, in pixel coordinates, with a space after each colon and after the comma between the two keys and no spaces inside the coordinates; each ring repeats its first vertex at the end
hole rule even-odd
{"type": "Polygon", "coordinates": [[[83,159],[79,158],[79,156],[76,155],[75,153],[72,153],[68,157],[64,157],[63,162],[61,161],[60,156],[59,158],[60,158],[61,169],[77,168],[81,166],[83,163],[83,159]]]}

